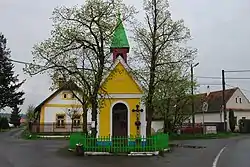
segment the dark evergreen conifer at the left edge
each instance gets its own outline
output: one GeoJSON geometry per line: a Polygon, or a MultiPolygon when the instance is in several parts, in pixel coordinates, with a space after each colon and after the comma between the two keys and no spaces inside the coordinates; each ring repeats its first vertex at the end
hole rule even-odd
{"type": "Polygon", "coordinates": [[[0,111],[5,107],[21,105],[24,101],[24,92],[18,91],[24,81],[18,82],[18,75],[14,75],[14,65],[9,58],[7,39],[0,33],[0,111]]]}

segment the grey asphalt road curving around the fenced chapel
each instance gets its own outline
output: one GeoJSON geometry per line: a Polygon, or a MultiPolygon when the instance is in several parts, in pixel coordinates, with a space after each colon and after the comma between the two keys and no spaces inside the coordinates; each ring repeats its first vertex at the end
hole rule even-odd
{"type": "Polygon", "coordinates": [[[226,149],[218,158],[216,167],[236,167],[236,164],[244,167],[244,164],[238,161],[250,162],[248,158],[250,136],[221,140],[180,141],[183,144],[206,148],[174,148],[173,152],[165,154],[165,157],[79,157],[66,150],[68,141],[20,140],[15,138],[17,132],[18,130],[0,133],[0,167],[215,167],[213,162],[225,146],[226,149]]]}

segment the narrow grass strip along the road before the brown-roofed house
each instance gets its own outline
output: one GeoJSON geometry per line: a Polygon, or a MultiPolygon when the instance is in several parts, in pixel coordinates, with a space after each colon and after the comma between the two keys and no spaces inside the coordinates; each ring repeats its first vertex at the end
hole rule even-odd
{"type": "Polygon", "coordinates": [[[170,140],[193,140],[193,139],[220,139],[240,135],[239,133],[220,132],[217,134],[170,134],[170,140]]]}

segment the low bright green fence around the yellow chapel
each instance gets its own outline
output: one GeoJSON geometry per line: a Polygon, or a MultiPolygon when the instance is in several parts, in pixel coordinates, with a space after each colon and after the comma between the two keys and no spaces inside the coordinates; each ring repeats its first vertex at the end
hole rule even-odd
{"type": "Polygon", "coordinates": [[[70,135],[70,149],[75,149],[76,144],[81,144],[84,151],[93,152],[148,152],[161,151],[168,148],[168,134],[156,134],[150,137],[99,137],[93,138],[82,133],[70,135]]]}

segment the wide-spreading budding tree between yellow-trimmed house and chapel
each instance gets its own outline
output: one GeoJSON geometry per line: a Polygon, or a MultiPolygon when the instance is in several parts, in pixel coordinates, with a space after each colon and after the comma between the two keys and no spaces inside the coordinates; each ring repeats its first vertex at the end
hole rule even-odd
{"type": "Polygon", "coordinates": [[[124,18],[134,13],[133,7],[118,0],[86,0],[80,7],[56,8],[51,37],[35,45],[34,63],[25,68],[30,75],[47,71],[54,82],[59,76],[73,81],[79,88],[75,97],[83,106],[85,119],[87,107],[92,108],[93,135],[96,135],[97,109],[101,104],[99,88],[111,62],[110,44],[117,27],[118,7],[124,18]]]}

